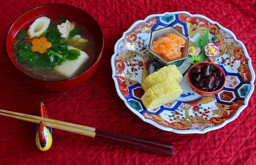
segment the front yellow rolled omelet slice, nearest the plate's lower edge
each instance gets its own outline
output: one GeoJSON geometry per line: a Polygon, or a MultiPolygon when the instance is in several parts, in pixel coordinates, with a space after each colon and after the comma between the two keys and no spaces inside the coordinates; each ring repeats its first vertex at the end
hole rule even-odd
{"type": "Polygon", "coordinates": [[[170,79],[150,87],[141,97],[141,101],[150,110],[178,99],[182,92],[178,82],[170,79]]]}

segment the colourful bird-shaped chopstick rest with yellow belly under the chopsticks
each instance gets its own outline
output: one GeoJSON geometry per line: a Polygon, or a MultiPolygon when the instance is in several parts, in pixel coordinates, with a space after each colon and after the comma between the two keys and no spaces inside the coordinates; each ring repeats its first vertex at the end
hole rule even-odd
{"type": "MultiPolygon", "coordinates": [[[[40,116],[49,118],[43,102],[40,102],[40,116]]],[[[41,121],[35,127],[35,143],[41,151],[47,151],[52,146],[52,128],[45,127],[41,121]]]]}

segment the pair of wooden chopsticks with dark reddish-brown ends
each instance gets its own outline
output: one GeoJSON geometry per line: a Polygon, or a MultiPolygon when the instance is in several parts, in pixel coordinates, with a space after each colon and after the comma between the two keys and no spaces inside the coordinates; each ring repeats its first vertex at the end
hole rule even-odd
{"type": "Polygon", "coordinates": [[[153,142],[150,140],[143,140],[135,137],[125,136],[121,134],[115,134],[111,132],[106,132],[102,130],[98,130],[93,127],[83,126],[79,124],[68,123],[65,121],[43,118],[40,116],[28,115],[24,113],[18,113],[13,111],[6,111],[0,109],[0,115],[6,116],[14,119],[19,119],[22,121],[27,121],[30,123],[39,124],[40,121],[47,127],[52,127],[55,129],[60,129],[63,131],[73,132],[76,134],[81,134],[89,137],[99,137],[102,139],[112,140],[115,142],[133,145],[140,148],[143,148],[148,151],[163,153],[165,155],[173,155],[174,153],[171,151],[173,148],[172,145],[167,145],[164,143],[153,142]]]}

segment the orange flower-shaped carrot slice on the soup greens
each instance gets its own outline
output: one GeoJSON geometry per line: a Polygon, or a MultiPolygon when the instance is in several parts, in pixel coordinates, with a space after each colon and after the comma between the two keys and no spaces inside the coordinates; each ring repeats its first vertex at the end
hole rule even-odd
{"type": "Polygon", "coordinates": [[[33,39],[32,45],[33,46],[31,47],[31,50],[33,52],[39,52],[40,54],[43,54],[48,48],[52,46],[51,42],[47,41],[47,38],[45,37],[33,39]]]}

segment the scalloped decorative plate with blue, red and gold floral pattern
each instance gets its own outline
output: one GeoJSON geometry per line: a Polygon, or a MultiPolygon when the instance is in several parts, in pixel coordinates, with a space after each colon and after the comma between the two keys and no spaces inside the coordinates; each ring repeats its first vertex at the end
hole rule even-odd
{"type": "MultiPolygon", "coordinates": [[[[143,121],[165,131],[203,134],[219,129],[237,118],[254,91],[255,73],[244,44],[231,31],[203,15],[188,12],[150,15],[124,32],[114,52],[112,77],[119,97],[143,121]],[[191,90],[185,75],[180,82],[183,94],[177,100],[146,110],[140,100],[144,94],[141,84],[158,69],[149,62],[150,32],[170,25],[189,37],[190,46],[194,46],[208,28],[209,41],[213,40],[215,31],[215,41],[221,40],[223,44],[219,46],[219,54],[210,60],[224,70],[226,83],[213,97],[202,97],[191,90]]],[[[187,58],[178,69],[184,73],[189,66],[187,58]]]]}

